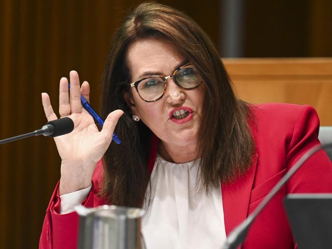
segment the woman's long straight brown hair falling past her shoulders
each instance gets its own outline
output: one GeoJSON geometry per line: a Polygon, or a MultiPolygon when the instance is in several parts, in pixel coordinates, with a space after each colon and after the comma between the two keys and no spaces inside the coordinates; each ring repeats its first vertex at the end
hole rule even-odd
{"type": "Polygon", "coordinates": [[[122,206],[143,205],[149,183],[147,167],[152,132],[143,122],[131,119],[124,94],[130,92],[130,71],[126,51],[133,41],[158,37],[172,42],[200,71],[206,96],[198,148],[199,183],[208,191],[219,181],[233,180],[251,164],[254,141],[248,125],[249,108],[236,98],[217,49],[198,24],[171,7],[138,5],[115,32],[111,42],[102,85],[102,116],[115,109],[125,114],[115,132],[122,139],[113,142],[104,156],[102,195],[122,206]]]}

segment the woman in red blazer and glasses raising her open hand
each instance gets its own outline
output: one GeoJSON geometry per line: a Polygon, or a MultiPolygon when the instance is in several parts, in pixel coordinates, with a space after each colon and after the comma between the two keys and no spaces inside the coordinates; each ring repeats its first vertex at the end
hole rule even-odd
{"type": "MultiPolygon", "coordinates": [[[[139,5],[114,35],[101,132],[81,107],[88,83],[80,87],[77,72],[70,72],[70,99],[67,84],[60,80],[59,113],[72,118],[75,129],[55,138],[61,179],[41,248],[76,247],[72,211],[81,202],[145,207],[148,248],[219,248],[319,143],[313,108],[253,106],[236,98],[210,39],[192,19],[163,5],[139,5]],[[120,145],[111,143],[113,131],[120,145]]],[[[42,102],[48,120],[56,119],[46,93],[42,102]]],[[[282,197],[331,192],[331,166],[324,152],[308,160],[258,216],[243,248],[293,248],[282,197]]]]}

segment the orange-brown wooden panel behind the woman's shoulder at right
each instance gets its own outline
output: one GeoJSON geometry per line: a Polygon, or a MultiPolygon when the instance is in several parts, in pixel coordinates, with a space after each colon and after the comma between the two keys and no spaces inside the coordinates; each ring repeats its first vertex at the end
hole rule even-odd
{"type": "Polygon", "coordinates": [[[249,103],[293,103],[316,108],[332,125],[332,58],[223,60],[235,91],[249,103]]]}

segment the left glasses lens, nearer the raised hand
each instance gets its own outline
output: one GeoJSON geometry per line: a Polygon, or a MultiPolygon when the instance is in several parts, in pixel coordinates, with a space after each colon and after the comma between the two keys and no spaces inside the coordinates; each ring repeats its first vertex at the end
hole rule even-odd
{"type": "Polygon", "coordinates": [[[145,79],[138,83],[139,95],[146,101],[155,101],[164,91],[165,82],[159,77],[145,79]]]}

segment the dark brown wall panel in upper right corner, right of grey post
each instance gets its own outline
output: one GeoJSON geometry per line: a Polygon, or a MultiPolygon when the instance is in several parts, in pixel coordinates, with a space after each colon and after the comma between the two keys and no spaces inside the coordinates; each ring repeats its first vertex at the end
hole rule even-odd
{"type": "Polygon", "coordinates": [[[243,2],[243,57],[332,56],[332,1],[243,2]]]}

